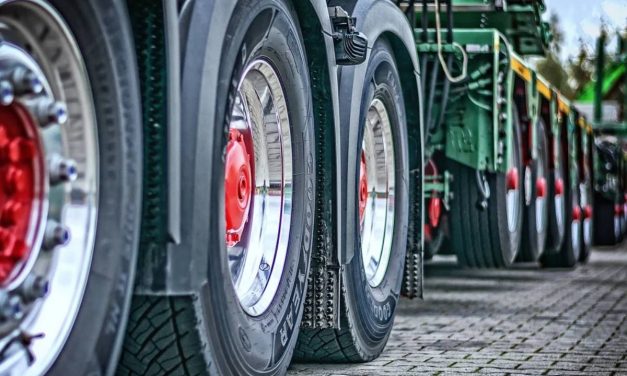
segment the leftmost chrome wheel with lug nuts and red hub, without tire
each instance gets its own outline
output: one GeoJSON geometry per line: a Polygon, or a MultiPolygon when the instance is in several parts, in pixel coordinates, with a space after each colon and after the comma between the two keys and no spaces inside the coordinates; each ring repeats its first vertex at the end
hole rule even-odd
{"type": "Polygon", "coordinates": [[[78,47],[51,6],[0,1],[0,34],[0,371],[44,373],[90,269],[97,127],[78,47]]]}

